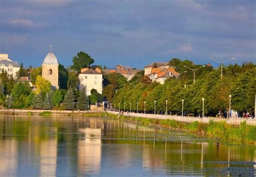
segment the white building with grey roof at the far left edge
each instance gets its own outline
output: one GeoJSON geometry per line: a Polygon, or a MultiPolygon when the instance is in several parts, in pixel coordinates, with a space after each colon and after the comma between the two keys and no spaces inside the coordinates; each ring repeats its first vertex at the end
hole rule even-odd
{"type": "Polygon", "coordinates": [[[2,69],[6,70],[9,77],[12,75],[16,78],[16,73],[19,70],[19,63],[9,59],[8,54],[0,53],[0,73],[2,72],[2,69]]]}

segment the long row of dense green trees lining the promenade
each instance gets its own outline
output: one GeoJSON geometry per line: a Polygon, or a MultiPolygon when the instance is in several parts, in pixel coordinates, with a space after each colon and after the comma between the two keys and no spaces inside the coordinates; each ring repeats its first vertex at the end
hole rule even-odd
{"type": "MultiPolygon", "coordinates": [[[[184,72],[184,61],[174,59],[172,65],[181,72],[184,72]],[[183,66],[183,67],[182,67],[183,66]]],[[[187,60],[185,60],[187,63],[187,60]]],[[[186,66],[188,66],[186,64],[186,66]]],[[[200,65],[188,67],[197,68],[200,65]]],[[[184,100],[185,115],[198,116],[203,111],[205,116],[216,116],[219,112],[223,115],[229,109],[229,95],[231,95],[231,109],[238,111],[240,116],[243,112],[254,113],[254,98],[256,93],[256,66],[253,63],[243,63],[241,66],[235,64],[223,68],[223,77],[220,77],[220,67],[213,69],[206,66],[201,72],[196,73],[196,83],[193,84],[193,74],[189,70],[183,73],[180,79],[168,78],[165,84],[157,82],[136,82],[134,80],[118,89],[113,95],[112,108],[116,110],[154,112],[154,101],[156,111],[164,114],[167,111],[171,114],[181,115],[182,101],[184,100]],[[126,103],[126,104],[124,104],[126,103]]],[[[137,77],[137,80],[145,80],[144,76],[137,77]]]]}

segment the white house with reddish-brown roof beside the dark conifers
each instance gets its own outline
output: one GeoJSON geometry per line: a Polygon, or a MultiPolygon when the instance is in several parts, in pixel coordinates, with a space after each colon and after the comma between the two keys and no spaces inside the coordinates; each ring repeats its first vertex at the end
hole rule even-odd
{"type": "Polygon", "coordinates": [[[91,90],[96,89],[99,94],[102,94],[103,74],[100,69],[82,68],[78,77],[79,90],[85,88],[86,94],[91,95],[91,90]]]}

